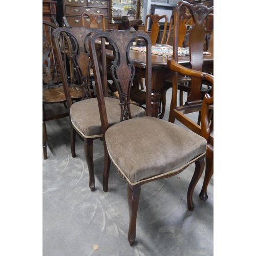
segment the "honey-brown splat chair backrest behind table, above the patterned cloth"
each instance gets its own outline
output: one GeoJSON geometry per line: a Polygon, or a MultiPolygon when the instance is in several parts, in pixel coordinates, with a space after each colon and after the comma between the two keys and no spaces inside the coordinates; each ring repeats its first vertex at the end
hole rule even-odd
{"type": "Polygon", "coordinates": [[[158,14],[155,15],[151,15],[151,14],[147,14],[146,18],[145,18],[145,32],[147,31],[147,23],[148,23],[148,19],[151,19],[153,24],[151,26],[151,34],[150,34],[150,38],[151,38],[151,42],[152,45],[156,45],[156,41],[157,41],[157,37],[158,37],[158,33],[159,33],[159,20],[164,18],[164,28],[163,28],[163,36],[161,38],[160,44],[163,44],[164,42],[164,38],[165,38],[165,34],[166,34],[166,29],[167,29],[167,21],[168,21],[168,17],[166,15],[162,15],[159,16],[158,14]]]}

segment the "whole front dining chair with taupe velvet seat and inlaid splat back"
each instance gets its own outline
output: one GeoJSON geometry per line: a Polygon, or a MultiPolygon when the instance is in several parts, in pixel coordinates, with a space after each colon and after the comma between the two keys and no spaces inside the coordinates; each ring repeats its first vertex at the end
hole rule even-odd
{"type": "MultiPolygon", "coordinates": [[[[195,173],[187,192],[187,207],[189,210],[194,209],[193,191],[204,169],[207,141],[184,127],[151,117],[151,39],[146,33],[130,33],[128,30],[101,31],[93,34],[89,42],[104,142],[103,190],[108,191],[112,160],[128,183],[127,199],[130,212],[128,241],[133,245],[141,185],[177,175],[195,162],[195,173]],[[135,76],[135,66],[129,53],[136,37],[146,42],[146,116],[132,118],[133,104],[130,104],[130,90],[135,76]],[[108,102],[102,90],[104,84],[101,82],[101,73],[98,69],[95,43],[99,38],[108,41],[113,50],[111,73],[119,92],[119,100],[116,104],[119,108],[120,121],[114,125],[110,122],[108,102]]],[[[105,62],[106,60],[102,61],[105,62]]],[[[201,77],[205,75],[203,73],[201,77]]]]}

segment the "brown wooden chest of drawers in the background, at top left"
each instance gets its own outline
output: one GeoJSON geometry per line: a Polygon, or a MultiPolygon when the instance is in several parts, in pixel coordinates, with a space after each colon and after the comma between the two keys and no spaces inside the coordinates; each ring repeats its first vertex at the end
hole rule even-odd
{"type": "MultiPolygon", "coordinates": [[[[66,16],[70,26],[82,26],[83,12],[103,14],[104,20],[97,19],[99,28],[103,28],[103,22],[106,29],[113,27],[110,26],[110,0],[63,0],[63,16],[66,16]]],[[[85,18],[84,21],[85,26],[89,27],[90,20],[85,18]]]]}

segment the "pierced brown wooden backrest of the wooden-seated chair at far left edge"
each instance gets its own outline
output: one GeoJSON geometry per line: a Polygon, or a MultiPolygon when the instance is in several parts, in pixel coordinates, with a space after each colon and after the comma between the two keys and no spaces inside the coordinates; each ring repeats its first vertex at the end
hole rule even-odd
{"type": "Polygon", "coordinates": [[[42,20],[42,78],[43,86],[53,87],[59,82],[56,54],[52,45],[52,32],[58,28],[48,20],[42,20]]]}

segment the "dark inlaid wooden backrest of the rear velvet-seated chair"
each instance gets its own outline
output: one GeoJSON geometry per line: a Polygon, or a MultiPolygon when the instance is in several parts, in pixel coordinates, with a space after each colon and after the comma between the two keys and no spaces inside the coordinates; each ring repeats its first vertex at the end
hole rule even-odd
{"type": "Polygon", "coordinates": [[[72,99],[70,86],[82,88],[82,99],[91,98],[90,69],[91,59],[88,38],[99,29],[85,27],[57,28],[53,31],[53,45],[60,70],[67,106],[70,109],[72,99]]]}

